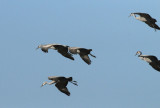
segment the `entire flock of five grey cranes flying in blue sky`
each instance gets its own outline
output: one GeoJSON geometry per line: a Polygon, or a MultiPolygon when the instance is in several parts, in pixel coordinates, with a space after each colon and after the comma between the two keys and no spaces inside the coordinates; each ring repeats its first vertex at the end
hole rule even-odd
{"type": "MultiPolygon", "coordinates": [[[[157,20],[152,18],[147,13],[131,13],[130,16],[134,16],[137,20],[140,20],[142,22],[145,22],[148,26],[154,28],[154,30],[160,30],[160,27],[156,24],[157,20]],[[139,15],[139,16],[136,16],[139,15]]],[[[46,45],[39,45],[37,49],[41,48],[41,50],[44,53],[48,53],[49,49],[57,50],[58,53],[60,53],[62,56],[74,60],[73,55],[79,54],[82,60],[87,63],[88,65],[91,64],[91,60],[89,58],[89,55],[96,58],[93,54],[91,54],[92,49],[86,49],[86,48],[79,48],[79,47],[70,47],[66,45],[60,45],[60,44],[46,44],[46,45]]],[[[160,72],[160,60],[157,59],[156,56],[153,55],[142,55],[141,51],[137,51],[136,55],[138,57],[146,62],[149,63],[155,70],[160,72]]],[[[63,77],[63,76],[50,76],[48,77],[48,80],[51,80],[51,82],[44,82],[42,86],[48,84],[52,85],[55,83],[55,86],[59,91],[62,93],[65,93],[66,95],[70,96],[70,92],[67,89],[68,82],[77,85],[77,81],[73,81],[72,77],[63,77]]],[[[78,86],[78,85],[77,85],[78,86]]]]}

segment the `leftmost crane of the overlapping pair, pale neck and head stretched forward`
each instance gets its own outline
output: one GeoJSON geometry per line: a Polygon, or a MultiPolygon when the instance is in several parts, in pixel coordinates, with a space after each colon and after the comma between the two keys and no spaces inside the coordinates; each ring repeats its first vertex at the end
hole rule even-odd
{"type": "Polygon", "coordinates": [[[41,48],[41,50],[45,53],[48,53],[48,49],[54,49],[54,50],[57,50],[64,57],[74,60],[74,58],[72,57],[72,54],[68,52],[68,47],[69,46],[60,45],[60,44],[46,44],[46,45],[39,45],[37,49],[41,48]]]}

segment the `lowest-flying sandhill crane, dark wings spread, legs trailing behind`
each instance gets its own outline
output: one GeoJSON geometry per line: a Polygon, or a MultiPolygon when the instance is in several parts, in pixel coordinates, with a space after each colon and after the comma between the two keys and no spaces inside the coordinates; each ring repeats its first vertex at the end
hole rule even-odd
{"type": "Polygon", "coordinates": [[[41,87],[44,86],[44,85],[46,85],[46,84],[51,85],[51,84],[56,83],[55,86],[58,88],[58,90],[61,91],[64,94],[68,95],[68,96],[70,96],[70,92],[68,91],[68,89],[66,87],[67,84],[68,84],[68,82],[71,82],[72,84],[78,86],[77,85],[77,81],[72,81],[72,77],[65,78],[65,77],[62,77],[62,76],[59,76],[59,77],[57,77],[57,76],[50,76],[50,77],[48,77],[48,79],[52,80],[52,81],[49,82],[49,83],[45,81],[41,85],[41,87]]]}

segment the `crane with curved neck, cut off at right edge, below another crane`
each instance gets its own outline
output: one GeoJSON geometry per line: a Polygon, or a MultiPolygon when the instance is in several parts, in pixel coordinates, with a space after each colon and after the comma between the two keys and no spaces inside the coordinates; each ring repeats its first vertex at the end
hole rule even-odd
{"type": "Polygon", "coordinates": [[[138,55],[138,57],[140,59],[148,62],[149,65],[152,66],[152,68],[154,68],[157,71],[160,71],[160,60],[158,60],[156,56],[153,56],[153,55],[142,55],[141,51],[137,51],[136,55],[138,55]]]}

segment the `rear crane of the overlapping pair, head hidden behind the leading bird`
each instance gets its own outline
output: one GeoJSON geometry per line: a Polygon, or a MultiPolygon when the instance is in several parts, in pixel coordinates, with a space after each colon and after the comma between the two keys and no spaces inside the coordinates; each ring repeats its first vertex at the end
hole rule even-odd
{"type": "Polygon", "coordinates": [[[69,52],[72,54],[79,54],[80,57],[88,64],[91,64],[91,60],[88,56],[91,55],[92,57],[96,58],[96,56],[92,55],[90,52],[92,49],[86,49],[86,48],[79,48],[79,47],[68,47],[69,52]]]}

